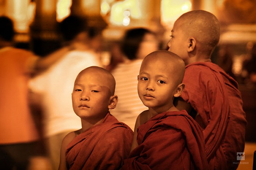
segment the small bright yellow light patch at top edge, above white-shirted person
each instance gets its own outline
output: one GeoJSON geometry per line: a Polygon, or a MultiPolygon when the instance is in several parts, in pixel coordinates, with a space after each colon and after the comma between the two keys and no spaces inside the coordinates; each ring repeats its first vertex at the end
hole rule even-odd
{"type": "Polygon", "coordinates": [[[62,21],[65,17],[70,14],[70,7],[72,0],[58,0],[56,7],[56,19],[58,22],[62,21]]]}

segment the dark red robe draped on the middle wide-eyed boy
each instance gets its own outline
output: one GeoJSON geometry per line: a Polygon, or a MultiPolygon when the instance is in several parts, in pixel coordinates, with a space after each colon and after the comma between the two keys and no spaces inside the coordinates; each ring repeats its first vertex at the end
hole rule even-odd
{"type": "Polygon", "coordinates": [[[139,126],[137,142],[122,169],[208,169],[202,128],[185,110],[155,115],[139,126]]]}

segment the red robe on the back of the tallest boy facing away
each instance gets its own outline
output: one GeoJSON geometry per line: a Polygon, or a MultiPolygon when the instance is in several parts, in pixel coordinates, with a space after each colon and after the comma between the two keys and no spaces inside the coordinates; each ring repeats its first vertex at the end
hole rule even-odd
{"type": "Polygon", "coordinates": [[[218,65],[196,62],[186,66],[181,98],[197,111],[203,127],[210,169],[236,169],[237,152],[245,144],[245,112],[238,83],[218,65]]]}

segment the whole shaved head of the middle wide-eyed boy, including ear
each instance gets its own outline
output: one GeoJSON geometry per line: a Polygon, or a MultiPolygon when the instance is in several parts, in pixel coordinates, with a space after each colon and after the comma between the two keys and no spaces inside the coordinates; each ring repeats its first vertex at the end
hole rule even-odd
{"type": "Polygon", "coordinates": [[[173,99],[180,96],[184,88],[181,83],[184,71],[182,59],[171,52],[161,50],[146,56],[138,76],[138,94],[149,111],[177,110],[173,99]]]}

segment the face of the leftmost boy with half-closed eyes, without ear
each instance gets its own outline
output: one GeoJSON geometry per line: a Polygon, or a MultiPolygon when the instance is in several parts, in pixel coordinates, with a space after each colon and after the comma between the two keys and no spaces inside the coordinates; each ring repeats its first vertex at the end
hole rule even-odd
{"type": "Polygon", "coordinates": [[[73,109],[80,118],[98,120],[108,112],[111,92],[106,79],[97,71],[78,76],[72,92],[73,109]]]}

